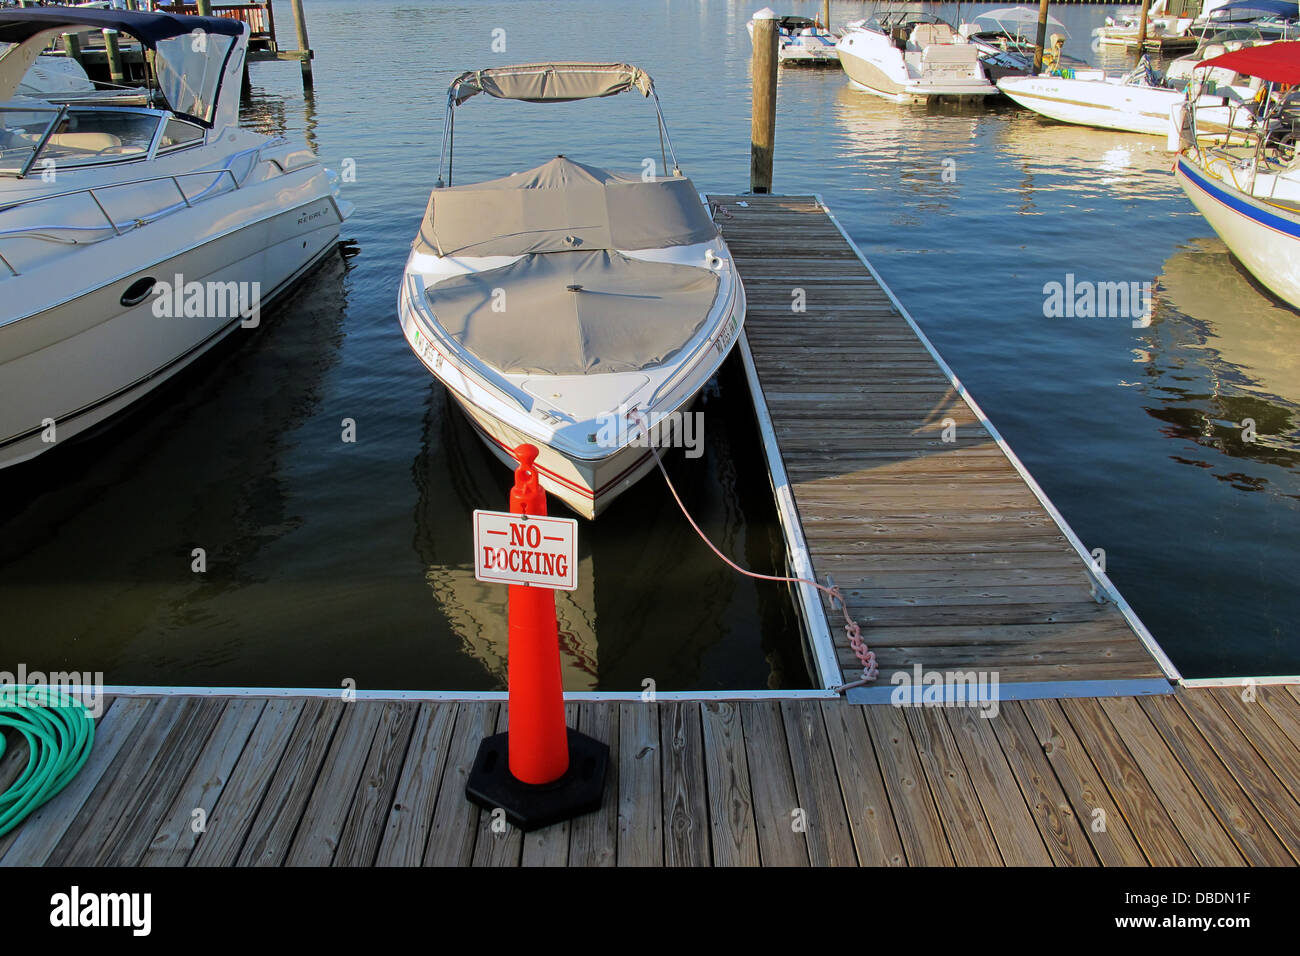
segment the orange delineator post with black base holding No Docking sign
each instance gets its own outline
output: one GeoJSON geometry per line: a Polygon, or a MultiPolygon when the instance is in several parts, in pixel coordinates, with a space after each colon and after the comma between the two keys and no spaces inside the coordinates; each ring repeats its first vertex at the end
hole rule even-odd
{"type": "MultiPolygon", "coordinates": [[[[546,516],[546,492],[537,481],[537,447],[515,453],[512,514],[546,516]]],[[[478,745],[465,796],[502,809],[521,830],[558,823],[599,809],[610,748],[564,726],[555,592],[510,585],[510,714],[507,731],[478,745]]]]}

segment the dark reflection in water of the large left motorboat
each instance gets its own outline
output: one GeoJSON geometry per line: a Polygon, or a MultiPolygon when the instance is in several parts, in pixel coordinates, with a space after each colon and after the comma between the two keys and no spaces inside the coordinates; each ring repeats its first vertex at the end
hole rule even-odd
{"type": "Polygon", "coordinates": [[[303,446],[338,362],[346,273],[329,254],[255,334],[0,475],[10,661],[109,684],[338,685],[341,646],[320,627],[334,596],[282,545],[308,524],[304,475],[326,471],[303,446]]]}

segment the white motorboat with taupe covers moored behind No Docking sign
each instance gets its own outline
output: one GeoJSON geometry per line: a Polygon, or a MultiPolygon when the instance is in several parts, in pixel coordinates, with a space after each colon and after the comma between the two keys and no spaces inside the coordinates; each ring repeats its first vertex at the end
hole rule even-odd
{"type": "Polygon", "coordinates": [[[727,245],[671,151],[654,83],[636,66],[456,77],[438,185],[398,297],[407,342],[488,446],[514,467],[514,449],[536,445],[542,486],[586,518],[654,467],[645,429],[671,437],[745,319],[727,245]],[[671,174],[556,156],[454,186],[454,111],[480,92],[530,103],[640,92],[654,101],[671,174]]]}

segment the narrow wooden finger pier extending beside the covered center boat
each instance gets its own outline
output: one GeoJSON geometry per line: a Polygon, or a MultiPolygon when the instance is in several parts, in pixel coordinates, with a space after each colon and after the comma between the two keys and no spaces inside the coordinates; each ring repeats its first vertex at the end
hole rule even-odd
{"type": "MultiPolygon", "coordinates": [[[[1171,665],[820,200],[710,200],[812,570],[848,597],[879,685],[920,665],[1167,691],[1171,665]]],[[[826,611],[853,680],[841,614],[826,611]]]]}

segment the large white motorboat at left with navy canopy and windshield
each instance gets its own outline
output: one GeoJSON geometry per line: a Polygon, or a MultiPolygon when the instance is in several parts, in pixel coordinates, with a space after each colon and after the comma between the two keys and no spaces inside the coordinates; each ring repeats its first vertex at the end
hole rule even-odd
{"type": "Polygon", "coordinates": [[[333,250],[347,207],[304,143],[239,129],[247,27],[125,10],[0,12],[0,467],[96,425],[333,250]],[[68,30],[153,52],[153,108],[17,98],[68,30]]]}

